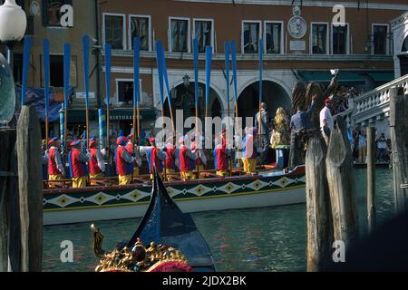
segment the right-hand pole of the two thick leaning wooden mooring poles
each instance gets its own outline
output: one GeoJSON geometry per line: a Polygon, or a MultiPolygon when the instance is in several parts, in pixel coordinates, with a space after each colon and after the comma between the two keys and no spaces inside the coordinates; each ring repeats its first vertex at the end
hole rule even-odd
{"type": "Polygon", "coordinates": [[[335,241],[344,242],[345,249],[348,249],[358,238],[355,174],[345,119],[338,117],[336,121],[336,127],[330,134],[325,166],[335,241]]]}

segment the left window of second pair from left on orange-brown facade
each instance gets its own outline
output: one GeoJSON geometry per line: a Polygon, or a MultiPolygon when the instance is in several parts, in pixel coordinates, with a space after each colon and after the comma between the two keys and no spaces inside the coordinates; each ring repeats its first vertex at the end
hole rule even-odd
{"type": "Polygon", "coordinates": [[[174,53],[189,53],[189,19],[170,18],[170,48],[174,53]]]}

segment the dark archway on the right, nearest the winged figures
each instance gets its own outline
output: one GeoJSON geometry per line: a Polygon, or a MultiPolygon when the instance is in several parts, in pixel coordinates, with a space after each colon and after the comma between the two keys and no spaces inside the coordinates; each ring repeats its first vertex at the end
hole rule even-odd
{"type": "MultiPolygon", "coordinates": [[[[274,118],[277,108],[291,111],[292,101],[287,92],[277,82],[262,82],[262,102],[267,103],[267,112],[274,118]]],[[[259,82],[253,82],[238,97],[239,117],[255,117],[259,111],[259,82]]]]}

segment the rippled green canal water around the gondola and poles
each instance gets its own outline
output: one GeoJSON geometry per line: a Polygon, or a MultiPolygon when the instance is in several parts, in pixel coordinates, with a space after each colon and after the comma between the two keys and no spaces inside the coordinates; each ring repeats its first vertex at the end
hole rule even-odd
{"type": "MultiPolygon", "coordinates": [[[[366,233],[366,171],[355,170],[360,228],[366,233]]],[[[377,169],[377,221],[393,215],[391,169],[377,169]]],[[[306,204],[193,214],[219,271],[306,271],[306,204]]],[[[101,221],[103,247],[112,249],[129,239],[140,218],[101,221]]],[[[93,271],[90,223],[44,227],[44,271],[93,271]],[[63,263],[60,247],[73,242],[73,263],[63,263]]]]}

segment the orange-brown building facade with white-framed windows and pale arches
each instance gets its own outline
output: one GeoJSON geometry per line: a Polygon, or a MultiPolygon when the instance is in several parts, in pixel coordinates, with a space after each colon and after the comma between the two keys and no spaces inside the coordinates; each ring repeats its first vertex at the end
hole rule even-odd
{"type": "MultiPolygon", "coordinates": [[[[155,41],[166,51],[172,101],[193,115],[192,39],[199,39],[199,108],[205,83],[204,47],[213,47],[209,111],[234,113],[226,97],[224,43],[234,40],[238,53],[238,111],[257,111],[258,39],[264,41],[264,101],[271,116],[278,106],[291,107],[298,81],[330,81],[330,69],[344,72],[340,84],[368,91],[393,79],[390,21],[408,9],[405,1],[319,2],[274,0],[131,0],[101,3],[102,43],[112,43],[112,92],[115,106],[131,106],[132,37],[141,37],[141,91],[144,108],[160,115],[155,41]],[[334,24],[335,5],[345,8],[345,25],[334,24]],[[189,86],[183,78],[189,76],[189,86]],[[126,89],[128,88],[128,89],[126,89]],[[228,110],[229,108],[229,110],[228,110]]],[[[230,87],[231,92],[232,86],[230,87]]],[[[165,108],[165,110],[168,110],[165,108]]]]}

